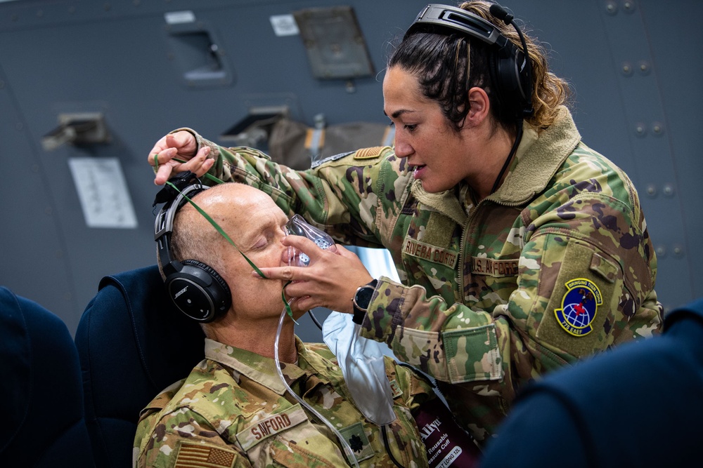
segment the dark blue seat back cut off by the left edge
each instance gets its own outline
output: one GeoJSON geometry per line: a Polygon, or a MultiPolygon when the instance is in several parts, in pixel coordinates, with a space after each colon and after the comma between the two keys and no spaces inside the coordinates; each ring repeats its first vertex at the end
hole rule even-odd
{"type": "Polygon", "coordinates": [[[91,467],[78,353],[65,323],[0,287],[0,466],[91,467]]]}

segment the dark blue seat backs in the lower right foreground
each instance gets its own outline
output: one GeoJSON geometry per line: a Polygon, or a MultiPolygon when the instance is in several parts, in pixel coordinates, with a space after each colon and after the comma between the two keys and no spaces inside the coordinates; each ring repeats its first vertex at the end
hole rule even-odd
{"type": "Polygon", "coordinates": [[[483,468],[685,467],[700,460],[703,300],[631,342],[527,387],[483,468]]]}

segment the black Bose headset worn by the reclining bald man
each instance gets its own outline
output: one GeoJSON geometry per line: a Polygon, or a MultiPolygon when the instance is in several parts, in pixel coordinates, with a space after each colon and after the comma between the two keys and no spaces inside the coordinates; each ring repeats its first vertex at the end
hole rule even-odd
{"type": "Polygon", "coordinates": [[[163,203],[164,199],[167,201],[156,216],[154,239],[159,262],[166,276],[166,288],[174,304],[191,319],[207,323],[228,311],[232,296],[226,281],[212,267],[198,260],[179,262],[172,258],[171,236],[176,212],[189,198],[208,188],[200,185],[200,182],[192,183],[191,173],[183,174],[186,175],[179,175],[179,180],[174,185],[189,185],[183,189],[167,186],[157,194],[155,205],[163,203]]]}

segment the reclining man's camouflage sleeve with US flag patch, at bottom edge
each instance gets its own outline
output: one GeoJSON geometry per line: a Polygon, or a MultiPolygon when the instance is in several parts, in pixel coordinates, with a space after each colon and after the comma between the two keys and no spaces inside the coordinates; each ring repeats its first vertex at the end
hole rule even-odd
{"type": "Polygon", "coordinates": [[[228,444],[205,418],[186,408],[157,420],[157,411],[143,413],[135,438],[135,467],[251,467],[238,448],[228,444]]]}

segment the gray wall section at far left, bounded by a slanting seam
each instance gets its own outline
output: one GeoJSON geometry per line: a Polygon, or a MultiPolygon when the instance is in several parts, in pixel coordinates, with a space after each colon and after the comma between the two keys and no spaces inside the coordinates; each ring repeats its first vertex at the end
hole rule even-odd
{"type": "MultiPolygon", "coordinates": [[[[13,91],[0,66],[0,141],[4,168],[0,183],[0,283],[64,312],[75,326],[77,309],[70,252],[49,189],[50,173],[37,160],[37,148],[18,112],[13,91]]],[[[69,325],[69,326],[70,326],[69,325]]]]}

